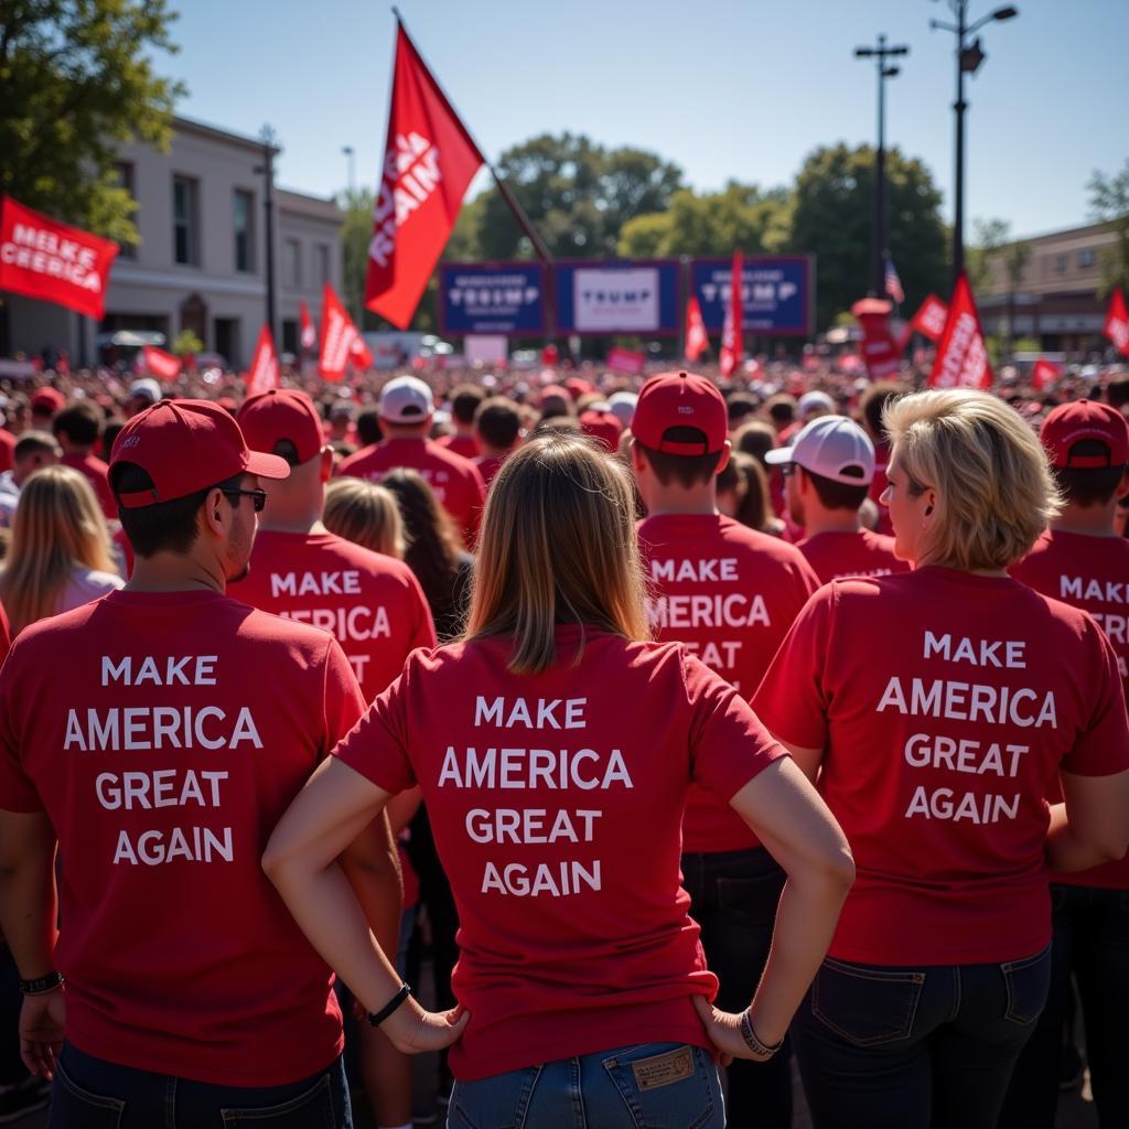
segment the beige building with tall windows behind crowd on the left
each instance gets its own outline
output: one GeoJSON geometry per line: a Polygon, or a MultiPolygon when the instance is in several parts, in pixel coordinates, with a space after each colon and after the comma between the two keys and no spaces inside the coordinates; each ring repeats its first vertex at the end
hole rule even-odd
{"type": "MultiPolygon", "coordinates": [[[[184,117],[168,152],[122,149],[119,173],[138,202],[135,247],[111,271],[106,315],[94,327],[59,306],[9,297],[9,351],[67,348],[94,361],[117,331],[160,333],[166,344],[192,330],[234,368],[251,360],[266,320],[263,146],[184,117]]],[[[341,289],[340,229],[332,200],[275,187],[275,342],[298,348],[298,304],[317,320],[326,281],[341,289]]]]}

